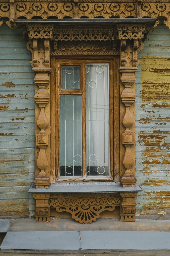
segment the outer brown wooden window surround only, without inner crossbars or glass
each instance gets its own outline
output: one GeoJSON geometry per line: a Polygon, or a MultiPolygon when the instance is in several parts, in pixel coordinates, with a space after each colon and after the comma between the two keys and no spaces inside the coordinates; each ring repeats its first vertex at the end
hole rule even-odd
{"type": "MultiPolygon", "coordinates": [[[[69,62],[70,62],[69,61],[69,62]]],[[[70,62],[70,63],[71,63],[70,62]]],[[[120,180],[120,135],[119,135],[119,56],[51,56],[51,174],[53,178],[53,182],[57,181],[115,181],[118,182],[120,180]],[[78,62],[105,62],[110,63],[110,96],[115,99],[113,100],[113,114],[112,117],[113,123],[111,124],[111,128],[113,128],[113,133],[110,142],[110,146],[112,144],[112,149],[110,154],[113,154],[111,157],[111,167],[110,167],[110,177],[101,177],[101,178],[59,178],[59,106],[57,105],[59,93],[58,93],[58,71],[56,62],[57,61],[65,61],[68,62],[68,59],[74,63],[78,62]],[[113,89],[113,96],[111,96],[111,90],[113,89]],[[54,95],[56,95],[54,97],[54,95]],[[55,120],[55,121],[54,121],[55,120]],[[54,138],[56,138],[54,143],[54,138]],[[112,168],[112,169],[111,169],[112,168]]],[[[112,100],[112,99],[111,99],[112,100]]],[[[85,104],[85,103],[84,103],[85,104]]]]}

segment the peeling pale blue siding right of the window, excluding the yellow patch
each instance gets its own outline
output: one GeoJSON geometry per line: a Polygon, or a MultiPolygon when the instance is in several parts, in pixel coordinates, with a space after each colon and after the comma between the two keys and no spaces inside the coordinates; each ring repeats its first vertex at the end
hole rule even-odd
{"type": "MultiPolygon", "coordinates": [[[[168,27],[158,25],[154,31],[150,31],[139,57],[145,55],[170,57],[168,27]]],[[[170,64],[168,67],[170,69],[170,64]]],[[[136,216],[140,214],[137,218],[146,218],[151,214],[149,218],[166,219],[170,216],[170,199],[167,196],[170,188],[170,100],[143,102],[140,71],[139,64],[135,81],[136,178],[143,191],[137,196],[136,216]]],[[[170,83],[170,72],[167,74],[170,83]]]]}

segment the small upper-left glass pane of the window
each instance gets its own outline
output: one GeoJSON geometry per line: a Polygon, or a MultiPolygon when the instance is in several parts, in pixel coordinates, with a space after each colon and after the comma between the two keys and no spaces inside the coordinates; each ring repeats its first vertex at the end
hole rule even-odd
{"type": "Polygon", "coordinates": [[[80,66],[62,66],[62,90],[80,90],[80,66]]]}

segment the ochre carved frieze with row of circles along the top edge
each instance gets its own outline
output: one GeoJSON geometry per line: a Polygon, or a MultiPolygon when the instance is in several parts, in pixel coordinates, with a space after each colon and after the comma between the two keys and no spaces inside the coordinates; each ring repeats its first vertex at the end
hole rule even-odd
{"type": "MultiPolygon", "coordinates": [[[[16,25],[14,19],[24,17],[26,19],[32,19],[34,17],[47,18],[158,18],[165,17],[164,24],[170,28],[170,5],[168,0],[158,2],[157,0],[140,0],[140,1],[124,1],[117,0],[110,2],[109,0],[103,0],[98,2],[97,0],[66,0],[58,1],[47,0],[43,1],[30,1],[30,0],[2,0],[0,2],[0,18],[7,17],[9,21],[7,24],[15,29],[16,25]]],[[[159,21],[155,26],[159,24],[159,21]]],[[[140,34],[140,33],[139,33],[140,34]]]]}

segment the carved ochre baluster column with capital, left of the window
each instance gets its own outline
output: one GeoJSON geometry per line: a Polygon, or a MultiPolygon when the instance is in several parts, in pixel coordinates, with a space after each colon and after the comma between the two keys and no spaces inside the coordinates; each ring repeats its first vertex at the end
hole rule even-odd
{"type": "Polygon", "coordinates": [[[50,185],[50,41],[53,25],[28,24],[23,29],[28,33],[27,48],[32,52],[32,67],[35,72],[35,185],[47,188],[50,185]],[[38,107],[38,109],[37,109],[38,107]]]}

